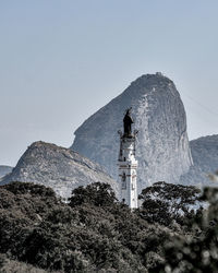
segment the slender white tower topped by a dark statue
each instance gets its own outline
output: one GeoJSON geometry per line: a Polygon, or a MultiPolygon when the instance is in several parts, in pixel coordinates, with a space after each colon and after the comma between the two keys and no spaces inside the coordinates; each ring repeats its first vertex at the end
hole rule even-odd
{"type": "Polygon", "coordinates": [[[118,158],[119,185],[121,200],[131,209],[137,207],[137,161],[135,159],[135,140],[137,131],[132,132],[133,119],[131,108],[126,110],[123,119],[123,131],[120,134],[120,153],[118,158]]]}

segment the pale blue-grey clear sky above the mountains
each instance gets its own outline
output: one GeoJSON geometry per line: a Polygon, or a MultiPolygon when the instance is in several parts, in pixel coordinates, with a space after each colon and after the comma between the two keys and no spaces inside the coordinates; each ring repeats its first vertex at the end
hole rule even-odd
{"type": "Polygon", "coordinates": [[[190,140],[218,133],[217,0],[0,0],[0,165],[76,128],[142,74],[173,80],[190,140]]]}

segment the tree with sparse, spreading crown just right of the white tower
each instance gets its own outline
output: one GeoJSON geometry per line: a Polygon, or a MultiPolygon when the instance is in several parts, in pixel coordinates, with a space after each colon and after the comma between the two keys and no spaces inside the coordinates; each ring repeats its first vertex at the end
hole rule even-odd
{"type": "Polygon", "coordinates": [[[140,194],[143,203],[138,214],[149,223],[187,224],[195,214],[192,205],[198,201],[199,193],[201,190],[193,186],[156,182],[140,194]]]}

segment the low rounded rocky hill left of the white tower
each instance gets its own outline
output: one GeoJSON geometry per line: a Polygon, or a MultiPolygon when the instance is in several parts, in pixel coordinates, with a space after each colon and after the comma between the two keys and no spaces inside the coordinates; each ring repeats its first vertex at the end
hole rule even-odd
{"type": "Polygon", "coordinates": [[[63,198],[69,198],[78,186],[97,181],[108,182],[117,192],[117,182],[101,166],[70,149],[45,142],[33,143],[0,183],[11,181],[41,183],[63,198]]]}

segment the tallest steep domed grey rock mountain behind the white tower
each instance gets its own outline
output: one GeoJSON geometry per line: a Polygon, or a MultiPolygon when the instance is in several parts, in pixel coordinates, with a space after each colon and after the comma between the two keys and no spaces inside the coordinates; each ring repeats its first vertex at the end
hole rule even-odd
{"type": "Polygon", "coordinates": [[[173,82],[160,73],[142,75],[90,116],[75,131],[71,149],[99,163],[117,179],[117,132],[129,107],[138,130],[138,191],[156,181],[179,182],[192,166],[186,117],[173,82]]]}

